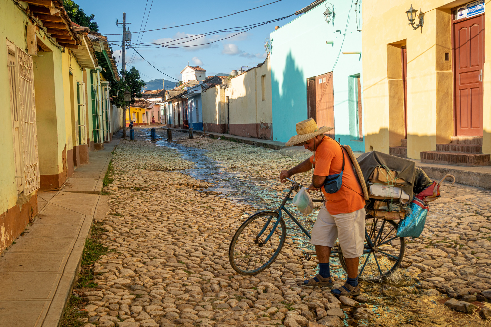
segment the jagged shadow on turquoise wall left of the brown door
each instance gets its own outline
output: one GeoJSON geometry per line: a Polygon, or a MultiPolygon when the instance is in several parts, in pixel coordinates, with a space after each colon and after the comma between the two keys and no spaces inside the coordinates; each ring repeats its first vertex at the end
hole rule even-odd
{"type": "Polygon", "coordinates": [[[297,68],[292,53],[286,57],[280,85],[271,71],[273,99],[273,140],[286,142],[297,134],[295,124],[307,119],[307,91],[303,72],[297,68]]]}

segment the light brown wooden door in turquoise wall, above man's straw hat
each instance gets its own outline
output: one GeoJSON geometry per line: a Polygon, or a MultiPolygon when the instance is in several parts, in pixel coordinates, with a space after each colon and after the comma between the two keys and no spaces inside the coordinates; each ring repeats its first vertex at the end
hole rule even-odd
{"type": "MultiPolygon", "coordinates": [[[[334,86],[332,72],[315,78],[316,123],[317,126],[334,127],[334,86]]],[[[334,129],[326,133],[335,138],[334,129]]]]}

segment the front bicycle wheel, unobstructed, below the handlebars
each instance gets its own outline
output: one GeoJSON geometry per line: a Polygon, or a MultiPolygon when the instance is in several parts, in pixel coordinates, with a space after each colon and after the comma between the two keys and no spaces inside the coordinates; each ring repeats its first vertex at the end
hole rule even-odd
{"type": "Polygon", "coordinates": [[[230,265],[239,274],[257,274],[273,263],[285,238],[285,221],[277,212],[258,212],[247,218],[232,238],[228,250],[230,265]]]}

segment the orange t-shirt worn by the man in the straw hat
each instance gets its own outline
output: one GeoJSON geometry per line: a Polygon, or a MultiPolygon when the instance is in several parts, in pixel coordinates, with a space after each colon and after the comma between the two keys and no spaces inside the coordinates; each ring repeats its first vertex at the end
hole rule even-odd
{"type": "MultiPolygon", "coordinates": [[[[344,172],[341,188],[336,193],[329,194],[324,189],[324,185],[321,187],[326,197],[327,211],[331,215],[354,212],[365,206],[363,190],[355,175],[350,155],[346,150],[341,150],[339,143],[328,136],[322,139],[315,152],[314,175],[329,176],[341,173],[343,167],[341,151],[344,151],[344,172]]],[[[314,155],[310,157],[310,162],[313,162],[313,159],[314,155]]]]}

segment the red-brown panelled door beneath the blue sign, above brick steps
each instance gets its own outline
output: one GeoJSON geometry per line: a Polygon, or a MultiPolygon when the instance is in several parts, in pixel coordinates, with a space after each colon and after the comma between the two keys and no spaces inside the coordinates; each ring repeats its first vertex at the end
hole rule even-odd
{"type": "Polygon", "coordinates": [[[483,136],[484,16],[454,24],[457,136],[483,136]]]}

